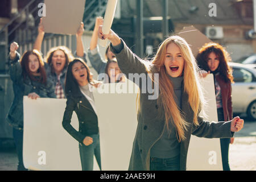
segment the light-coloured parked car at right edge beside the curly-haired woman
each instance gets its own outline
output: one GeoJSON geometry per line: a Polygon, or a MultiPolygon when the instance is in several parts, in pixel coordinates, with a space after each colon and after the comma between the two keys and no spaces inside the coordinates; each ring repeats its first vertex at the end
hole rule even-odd
{"type": "Polygon", "coordinates": [[[228,63],[233,69],[233,113],[246,113],[256,121],[256,69],[251,65],[228,63]]]}

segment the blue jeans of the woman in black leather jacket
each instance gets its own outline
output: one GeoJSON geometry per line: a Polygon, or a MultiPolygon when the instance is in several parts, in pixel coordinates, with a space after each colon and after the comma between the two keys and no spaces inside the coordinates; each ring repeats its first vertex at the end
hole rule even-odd
{"type": "Polygon", "coordinates": [[[93,143],[89,146],[79,144],[80,159],[82,164],[82,171],[93,170],[93,155],[97,160],[98,166],[101,169],[101,152],[100,152],[100,135],[90,135],[93,138],[93,143]]]}

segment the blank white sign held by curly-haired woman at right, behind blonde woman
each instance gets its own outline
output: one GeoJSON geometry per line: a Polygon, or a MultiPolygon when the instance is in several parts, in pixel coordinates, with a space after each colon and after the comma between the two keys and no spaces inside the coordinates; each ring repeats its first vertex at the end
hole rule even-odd
{"type": "MultiPolygon", "coordinates": [[[[204,108],[204,121],[218,121],[217,106],[214,89],[213,75],[210,74],[201,80],[205,100],[208,102],[204,108]]],[[[222,171],[220,139],[199,138],[191,135],[187,157],[188,171],[222,171]]]]}

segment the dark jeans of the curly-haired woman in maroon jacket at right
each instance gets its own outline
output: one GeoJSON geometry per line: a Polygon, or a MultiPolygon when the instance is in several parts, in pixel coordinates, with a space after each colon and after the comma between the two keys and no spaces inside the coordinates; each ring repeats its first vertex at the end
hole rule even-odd
{"type": "MultiPolygon", "coordinates": [[[[218,113],[218,121],[224,121],[224,113],[223,109],[217,109],[218,113]]],[[[222,167],[224,171],[230,171],[229,168],[229,143],[230,138],[221,138],[220,144],[221,144],[221,158],[222,158],[222,167]]]]}

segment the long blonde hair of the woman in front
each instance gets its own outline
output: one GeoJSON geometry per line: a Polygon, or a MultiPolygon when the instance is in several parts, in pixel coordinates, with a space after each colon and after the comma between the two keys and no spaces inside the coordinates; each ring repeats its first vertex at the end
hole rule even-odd
{"type": "Polygon", "coordinates": [[[174,87],[168,77],[166,68],[164,67],[166,49],[171,43],[175,43],[180,48],[181,55],[184,59],[184,91],[188,94],[188,102],[194,113],[193,123],[195,125],[199,124],[197,121],[197,115],[201,110],[201,105],[204,104],[204,97],[199,82],[199,68],[197,67],[191,48],[180,36],[170,36],[164,40],[158,48],[156,56],[151,62],[151,69],[149,68],[147,71],[148,73],[151,73],[153,67],[159,72],[160,94],[158,98],[158,105],[163,106],[167,129],[169,129],[169,122],[172,121],[177,130],[177,139],[181,142],[181,140],[185,139],[185,130],[187,130],[188,123],[184,120],[183,114],[176,105],[174,100],[174,87]]]}

